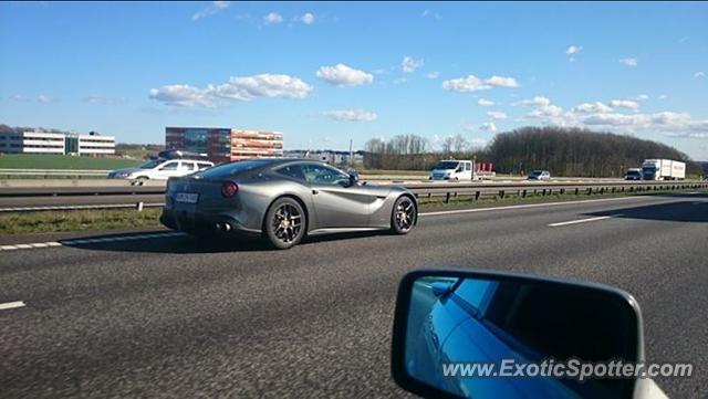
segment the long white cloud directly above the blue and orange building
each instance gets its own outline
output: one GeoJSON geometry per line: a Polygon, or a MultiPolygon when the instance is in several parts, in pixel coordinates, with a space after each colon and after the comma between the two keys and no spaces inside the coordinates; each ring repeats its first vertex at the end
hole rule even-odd
{"type": "Polygon", "coordinates": [[[289,75],[260,74],[232,76],[227,83],[198,88],[185,84],[166,85],[149,91],[149,98],[166,105],[212,107],[228,101],[249,102],[258,97],[304,98],[312,86],[289,75]]]}

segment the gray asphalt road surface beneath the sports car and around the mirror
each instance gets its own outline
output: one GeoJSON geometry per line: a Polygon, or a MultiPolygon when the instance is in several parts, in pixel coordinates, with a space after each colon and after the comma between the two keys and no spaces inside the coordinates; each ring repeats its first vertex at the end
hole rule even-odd
{"type": "Polygon", "coordinates": [[[708,196],[425,216],[407,237],[290,251],[188,237],[0,251],[0,396],[402,397],[389,376],[400,276],[513,270],[635,295],[647,357],[690,361],[673,398],[708,387],[708,196]],[[579,219],[575,224],[549,224],[579,219]]]}

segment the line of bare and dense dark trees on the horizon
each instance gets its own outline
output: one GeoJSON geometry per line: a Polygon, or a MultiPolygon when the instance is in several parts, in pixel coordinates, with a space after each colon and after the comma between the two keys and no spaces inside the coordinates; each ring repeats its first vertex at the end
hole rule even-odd
{"type": "Polygon", "coordinates": [[[493,162],[502,174],[524,175],[533,169],[553,176],[620,177],[644,159],[663,158],[687,162],[687,174],[700,175],[700,166],[674,147],[627,135],[582,128],[522,127],[500,133],[487,146],[475,147],[461,135],[441,140],[439,148],[417,135],[389,140],[373,138],[365,144],[367,169],[429,170],[441,159],[493,162]]]}

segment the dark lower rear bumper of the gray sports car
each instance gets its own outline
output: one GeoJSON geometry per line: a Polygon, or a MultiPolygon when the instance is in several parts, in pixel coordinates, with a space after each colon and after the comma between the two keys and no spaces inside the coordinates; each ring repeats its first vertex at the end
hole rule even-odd
{"type": "Polygon", "coordinates": [[[187,233],[214,232],[225,235],[260,235],[260,230],[243,227],[236,218],[225,213],[174,211],[163,208],[163,225],[187,233]]]}

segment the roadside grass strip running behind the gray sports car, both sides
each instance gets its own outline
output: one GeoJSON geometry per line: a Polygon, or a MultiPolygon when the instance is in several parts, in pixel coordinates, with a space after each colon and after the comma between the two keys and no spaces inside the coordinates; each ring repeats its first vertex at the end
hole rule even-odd
{"type": "MultiPolygon", "coordinates": [[[[707,189],[648,191],[642,193],[615,192],[615,193],[574,193],[565,195],[530,195],[525,198],[517,196],[499,197],[458,197],[445,202],[440,198],[420,198],[420,212],[441,211],[452,209],[488,208],[500,206],[513,206],[521,203],[543,203],[579,201],[587,199],[627,197],[627,196],[654,196],[662,193],[677,193],[681,191],[699,191],[708,193],[707,189]]],[[[146,208],[142,212],[135,209],[106,209],[106,210],[76,210],[76,211],[37,211],[21,213],[0,213],[0,234],[32,234],[46,232],[72,231],[101,231],[111,229],[152,228],[159,227],[162,208],[146,208]]]]}

